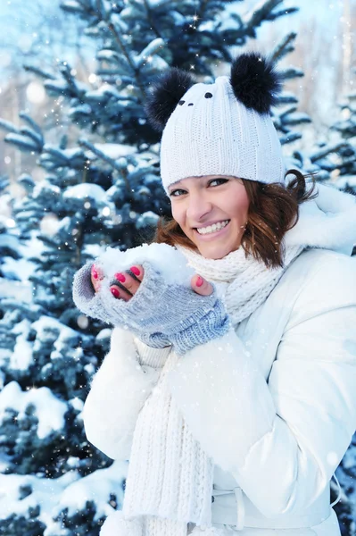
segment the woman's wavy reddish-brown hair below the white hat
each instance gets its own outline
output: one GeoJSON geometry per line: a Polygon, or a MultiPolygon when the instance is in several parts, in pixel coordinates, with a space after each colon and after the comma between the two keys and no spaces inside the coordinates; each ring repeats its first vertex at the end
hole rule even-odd
{"type": "MultiPolygon", "coordinates": [[[[303,175],[298,170],[289,170],[294,179],[287,186],[279,182],[264,184],[256,180],[243,180],[250,200],[248,222],[241,239],[245,255],[253,255],[263,261],[268,268],[283,266],[282,239],[287,230],[298,222],[298,207],[304,201],[313,199],[315,180],[313,175],[303,175]],[[305,179],[311,177],[311,188],[307,189],[305,179]]],[[[195,244],[186,237],[173,218],[161,218],[157,225],[153,242],[176,244],[197,251],[195,244]]]]}

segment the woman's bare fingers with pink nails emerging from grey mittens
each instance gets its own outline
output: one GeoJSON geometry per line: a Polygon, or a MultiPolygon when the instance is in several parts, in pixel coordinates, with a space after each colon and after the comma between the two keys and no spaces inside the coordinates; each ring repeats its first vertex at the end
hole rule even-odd
{"type": "MultiPolygon", "coordinates": [[[[117,284],[115,280],[111,281],[110,289],[112,296],[118,299],[123,299],[124,301],[128,301],[134,296],[134,294],[136,294],[144,275],[145,270],[141,264],[131,266],[131,268],[125,272],[115,273],[115,280],[118,281],[119,284],[117,284]]],[[[100,289],[102,280],[103,273],[93,264],[91,270],[91,281],[95,292],[98,292],[100,289]]],[[[204,280],[203,277],[197,273],[195,273],[195,275],[192,277],[190,284],[196,294],[200,294],[201,296],[210,296],[213,292],[211,283],[204,280]]]]}

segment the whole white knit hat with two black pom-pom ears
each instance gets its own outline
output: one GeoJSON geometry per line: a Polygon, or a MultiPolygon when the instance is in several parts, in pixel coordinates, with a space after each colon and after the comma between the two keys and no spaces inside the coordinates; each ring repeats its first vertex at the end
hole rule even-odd
{"type": "Polygon", "coordinates": [[[161,180],[232,175],[284,182],[286,165],[269,108],[281,84],[261,54],[242,54],[231,74],[197,83],[171,69],[153,89],[146,111],[161,137],[161,180]]]}

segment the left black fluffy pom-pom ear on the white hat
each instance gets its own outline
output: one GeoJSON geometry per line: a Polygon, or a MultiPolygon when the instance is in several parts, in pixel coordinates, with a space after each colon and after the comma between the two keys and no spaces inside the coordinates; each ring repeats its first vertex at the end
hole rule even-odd
{"type": "Polygon", "coordinates": [[[164,129],[170,114],[193,84],[191,75],[178,67],[170,68],[154,83],[145,105],[145,113],[153,129],[159,131],[164,129]]]}

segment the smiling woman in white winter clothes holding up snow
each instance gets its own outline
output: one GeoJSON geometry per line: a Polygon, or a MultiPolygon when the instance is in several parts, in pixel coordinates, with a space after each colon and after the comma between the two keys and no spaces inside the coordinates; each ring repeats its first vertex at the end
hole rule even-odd
{"type": "Polygon", "coordinates": [[[115,326],[87,438],[129,460],[103,536],[340,534],[330,480],[356,429],[356,205],[286,172],[279,88],[260,54],[209,85],[165,74],[147,105],[173,215],[156,242],[195,268],[191,288],[144,254],[113,281],[100,259],[76,275],[79,309],[115,326]]]}

